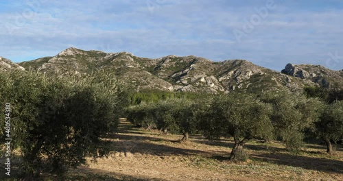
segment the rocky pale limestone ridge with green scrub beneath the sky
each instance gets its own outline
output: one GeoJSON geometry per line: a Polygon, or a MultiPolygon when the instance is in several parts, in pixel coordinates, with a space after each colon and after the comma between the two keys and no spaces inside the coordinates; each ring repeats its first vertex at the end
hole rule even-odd
{"type": "Polygon", "coordinates": [[[20,66],[53,76],[86,74],[104,69],[114,71],[121,82],[130,84],[136,90],[203,93],[259,92],[284,87],[302,90],[305,86],[327,86],[343,79],[343,71],[313,65],[287,64],[280,73],[246,60],[213,62],[196,56],[173,55],[152,59],[128,52],[105,53],[73,47],[56,56],[21,62],[20,66]]]}

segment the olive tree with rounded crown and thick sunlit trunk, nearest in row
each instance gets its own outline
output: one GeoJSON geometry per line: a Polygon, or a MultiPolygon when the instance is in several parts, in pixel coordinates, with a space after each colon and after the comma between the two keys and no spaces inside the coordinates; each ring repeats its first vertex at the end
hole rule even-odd
{"type": "Polygon", "coordinates": [[[216,97],[209,111],[203,113],[201,124],[206,136],[233,136],[235,145],[230,160],[246,160],[244,145],[250,139],[272,138],[271,106],[250,95],[232,93],[216,97]]]}

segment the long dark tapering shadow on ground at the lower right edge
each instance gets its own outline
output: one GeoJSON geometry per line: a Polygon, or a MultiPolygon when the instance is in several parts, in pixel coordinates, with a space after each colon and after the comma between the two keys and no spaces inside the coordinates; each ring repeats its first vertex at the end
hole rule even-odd
{"type": "Polygon", "coordinates": [[[343,174],[343,162],[339,160],[293,156],[289,154],[252,154],[250,156],[255,160],[272,162],[278,165],[302,167],[303,169],[343,174]]]}

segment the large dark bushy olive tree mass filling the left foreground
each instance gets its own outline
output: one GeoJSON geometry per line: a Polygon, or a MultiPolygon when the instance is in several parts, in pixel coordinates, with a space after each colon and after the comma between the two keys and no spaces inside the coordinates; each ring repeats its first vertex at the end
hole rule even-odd
{"type": "Polygon", "coordinates": [[[21,152],[24,180],[41,172],[63,175],[69,167],[108,153],[102,137],[117,128],[120,92],[115,77],[93,75],[47,77],[40,73],[0,73],[0,102],[10,104],[1,114],[10,125],[2,138],[14,138],[12,149],[21,152]],[[5,118],[8,117],[8,118],[5,118]],[[6,135],[8,134],[8,135],[6,135]]]}

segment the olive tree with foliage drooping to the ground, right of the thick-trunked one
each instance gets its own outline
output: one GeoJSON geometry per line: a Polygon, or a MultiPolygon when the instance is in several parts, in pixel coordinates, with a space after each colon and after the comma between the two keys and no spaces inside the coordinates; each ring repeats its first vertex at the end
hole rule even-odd
{"type": "Polygon", "coordinates": [[[304,131],[318,121],[324,105],[318,99],[307,98],[289,90],[269,91],[263,93],[260,99],[272,105],[270,118],[276,136],[293,151],[303,145],[304,131]]]}

